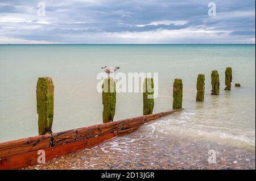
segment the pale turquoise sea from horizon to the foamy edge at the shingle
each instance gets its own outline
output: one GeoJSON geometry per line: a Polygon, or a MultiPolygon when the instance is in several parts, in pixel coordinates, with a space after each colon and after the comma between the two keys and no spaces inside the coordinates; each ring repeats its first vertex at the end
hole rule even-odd
{"type": "MultiPolygon", "coordinates": [[[[104,65],[126,74],[158,73],[154,112],[172,108],[172,83],[183,79],[185,109],[163,118],[165,132],[255,150],[255,45],[0,45],[0,141],[38,134],[42,76],[55,85],[54,132],[102,123],[96,76],[104,65]],[[232,91],[224,91],[227,66],[232,91]],[[210,95],[212,70],[220,74],[219,96],[210,95]],[[204,103],[195,101],[199,73],[206,78],[204,103]]],[[[115,120],[142,115],[142,108],[141,93],[119,93],[115,120]]]]}

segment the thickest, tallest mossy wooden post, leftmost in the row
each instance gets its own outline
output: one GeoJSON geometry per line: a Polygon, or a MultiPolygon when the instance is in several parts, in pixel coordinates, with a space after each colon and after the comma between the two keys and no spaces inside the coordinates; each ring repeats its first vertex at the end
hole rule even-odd
{"type": "Polygon", "coordinates": [[[54,86],[51,77],[39,77],[36,85],[39,135],[52,133],[54,86]]]}

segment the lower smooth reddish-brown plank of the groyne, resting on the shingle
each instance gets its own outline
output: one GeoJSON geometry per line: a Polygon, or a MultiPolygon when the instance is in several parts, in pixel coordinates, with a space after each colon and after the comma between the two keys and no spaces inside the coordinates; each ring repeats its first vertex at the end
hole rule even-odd
{"type": "MultiPolygon", "coordinates": [[[[55,146],[43,150],[46,153],[46,161],[50,161],[53,158],[61,157],[74,151],[82,150],[85,148],[89,148],[90,146],[100,144],[101,142],[110,140],[111,138],[114,138],[116,136],[117,134],[115,133],[104,134],[103,136],[88,138],[86,140],[76,141],[69,144],[55,146]]],[[[31,151],[29,153],[24,153],[13,157],[0,159],[0,169],[20,169],[26,166],[37,165],[38,157],[38,151],[31,151]]]]}

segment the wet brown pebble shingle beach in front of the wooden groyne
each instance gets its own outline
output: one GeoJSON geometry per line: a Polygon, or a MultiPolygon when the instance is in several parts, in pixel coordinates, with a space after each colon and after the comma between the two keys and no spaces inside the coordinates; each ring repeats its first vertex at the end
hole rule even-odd
{"type": "Polygon", "coordinates": [[[255,150],[159,132],[143,137],[154,122],[132,134],[23,169],[255,169],[255,150]],[[216,150],[216,164],[207,161],[211,148],[216,150]]]}

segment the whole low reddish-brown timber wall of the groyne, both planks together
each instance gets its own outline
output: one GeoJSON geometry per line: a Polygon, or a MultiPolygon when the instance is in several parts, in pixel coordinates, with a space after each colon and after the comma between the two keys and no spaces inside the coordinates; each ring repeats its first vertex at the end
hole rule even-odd
{"type": "Polygon", "coordinates": [[[69,154],[115,136],[133,133],[144,123],[180,110],[171,110],[69,131],[2,142],[0,143],[0,169],[17,169],[38,164],[37,159],[35,159],[39,156],[37,154],[38,150],[46,151],[48,154],[46,160],[55,158],[52,155],[69,154]],[[54,154],[49,150],[53,150],[54,154]]]}

